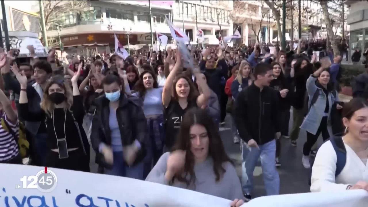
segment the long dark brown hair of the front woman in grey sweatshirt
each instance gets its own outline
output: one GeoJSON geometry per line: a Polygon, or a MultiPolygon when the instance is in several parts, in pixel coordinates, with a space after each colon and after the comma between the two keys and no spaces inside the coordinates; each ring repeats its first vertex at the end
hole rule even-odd
{"type": "Polygon", "coordinates": [[[190,128],[194,124],[202,125],[207,130],[209,138],[208,157],[213,159],[213,172],[216,175],[215,180],[218,182],[226,172],[222,164],[224,162],[230,162],[233,164],[233,162],[225,152],[219,129],[213,122],[212,117],[208,115],[205,109],[199,108],[192,108],[188,110],[183,117],[183,121],[181,122],[177,141],[173,147],[173,150],[184,150],[187,153],[185,154],[184,172],[180,175],[175,175],[174,179],[176,178],[180,182],[185,182],[187,186],[194,184],[195,182],[194,155],[190,150],[190,128]],[[187,179],[188,175],[189,179],[187,179]]]}

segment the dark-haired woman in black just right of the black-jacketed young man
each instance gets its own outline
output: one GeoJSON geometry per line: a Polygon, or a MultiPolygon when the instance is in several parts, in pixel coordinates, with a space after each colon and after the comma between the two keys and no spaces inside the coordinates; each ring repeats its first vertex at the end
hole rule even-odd
{"type": "MultiPolygon", "coordinates": [[[[291,103],[291,78],[286,78],[282,71],[280,63],[274,62],[271,64],[273,67],[273,80],[270,83],[270,87],[279,92],[279,115],[281,125],[281,136],[289,138],[289,119],[290,119],[290,103],[291,103]],[[289,93],[290,91],[290,93],[289,93]]],[[[281,137],[276,137],[276,167],[280,167],[280,148],[281,137]]]]}

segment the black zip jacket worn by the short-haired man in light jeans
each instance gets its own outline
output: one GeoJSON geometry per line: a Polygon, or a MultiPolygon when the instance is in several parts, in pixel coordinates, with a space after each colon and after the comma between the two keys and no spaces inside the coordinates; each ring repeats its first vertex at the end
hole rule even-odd
{"type": "Polygon", "coordinates": [[[235,101],[234,120],[240,137],[265,144],[275,139],[279,126],[279,98],[271,87],[262,91],[253,83],[241,91],[235,101]]]}

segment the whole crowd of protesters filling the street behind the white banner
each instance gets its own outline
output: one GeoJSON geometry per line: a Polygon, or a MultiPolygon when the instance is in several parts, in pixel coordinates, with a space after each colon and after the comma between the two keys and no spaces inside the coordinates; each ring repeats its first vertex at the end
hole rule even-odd
{"type": "Polygon", "coordinates": [[[280,193],[280,139],[296,146],[304,129],[305,168],[311,168],[320,134],[323,140],[344,134],[347,159],[364,164],[347,163],[332,182],[336,157],[331,144],[323,144],[312,191],[368,190],[360,176],[368,157],[368,75],[357,77],[354,94],[365,99],[344,105],[338,96],[342,56],[327,50],[318,61],[314,47],[299,41],[296,50],[276,48],[273,54],[259,44],[193,48],[192,68],[183,67],[181,52],[171,48],[125,59],[77,56],[69,64],[59,62],[54,50],[28,60],[14,50],[2,52],[0,162],[23,164],[27,157],[29,165],[90,172],[91,145],[99,173],[192,189],[240,206],[252,199],[259,158],[266,194],[280,193]],[[226,138],[242,146],[242,183],[219,133],[227,113],[232,137],[226,138]],[[350,168],[356,174],[349,175],[350,168]]]}

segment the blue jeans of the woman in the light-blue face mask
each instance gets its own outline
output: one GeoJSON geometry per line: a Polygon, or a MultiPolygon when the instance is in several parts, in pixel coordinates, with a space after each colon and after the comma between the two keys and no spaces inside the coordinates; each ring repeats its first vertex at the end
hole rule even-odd
{"type": "Polygon", "coordinates": [[[114,164],[112,169],[106,169],[106,175],[117,175],[127,178],[143,180],[144,162],[134,166],[127,166],[124,162],[123,151],[113,152],[114,164]]]}

